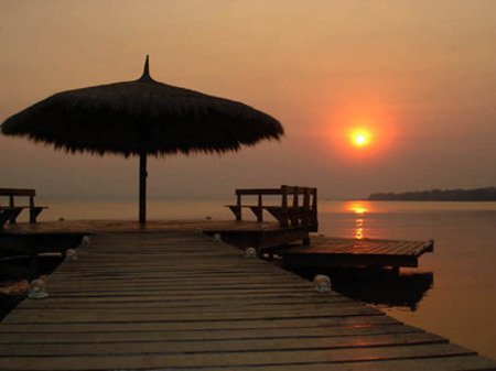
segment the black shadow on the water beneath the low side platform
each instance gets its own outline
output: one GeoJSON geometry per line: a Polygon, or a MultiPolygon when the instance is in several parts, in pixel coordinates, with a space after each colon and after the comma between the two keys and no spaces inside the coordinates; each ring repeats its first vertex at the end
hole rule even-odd
{"type": "Polygon", "coordinates": [[[351,298],[375,305],[417,310],[419,303],[432,288],[433,272],[396,272],[393,270],[331,269],[283,266],[312,281],[317,274],[331,277],[333,290],[351,298]]]}

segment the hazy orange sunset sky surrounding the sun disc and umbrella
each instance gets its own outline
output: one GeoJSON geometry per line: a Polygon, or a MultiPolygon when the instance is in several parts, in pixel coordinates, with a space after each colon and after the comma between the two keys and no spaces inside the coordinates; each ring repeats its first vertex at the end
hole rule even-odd
{"type": "MultiPolygon", "coordinates": [[[[0,122],[54,92],[136,79],[236,99],[281,142],[151,160],[150,197],[322,197],[496,185],[496,1],[0,0],[0,122]],[[348,132],[365,127],[370,145],[348,132]]],[[[137,159],[0,137],[0,186],[130,196],[137,159]]]]}

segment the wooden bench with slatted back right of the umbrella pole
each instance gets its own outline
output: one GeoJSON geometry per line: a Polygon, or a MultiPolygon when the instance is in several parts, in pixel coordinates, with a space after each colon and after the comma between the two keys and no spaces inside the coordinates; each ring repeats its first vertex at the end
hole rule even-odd
{"type": "Polygon", "coordinates": [[[274,217],[282,228],[299,227],[308,231],[317,231],[316,188],[282,185],[280,188],[241,188],[236,189],[236,205],[226,205],[242,220],[241,210],[247,208],[263,221],[263,210],[274,217]],[[257,204],[244,204],[242,196],[256,196],[257,204]],[[280,205],[263,205],[263,196],[280,196],[280,205]]]}

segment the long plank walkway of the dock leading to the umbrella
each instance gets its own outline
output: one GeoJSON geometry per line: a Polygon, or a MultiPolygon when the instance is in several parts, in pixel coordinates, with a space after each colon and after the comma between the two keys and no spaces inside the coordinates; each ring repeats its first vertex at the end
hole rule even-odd
{"type": "Polygon", "coordinates": [[[201,232],[91,241],[0,323],[1,370],[496,370],[201,232]]]}

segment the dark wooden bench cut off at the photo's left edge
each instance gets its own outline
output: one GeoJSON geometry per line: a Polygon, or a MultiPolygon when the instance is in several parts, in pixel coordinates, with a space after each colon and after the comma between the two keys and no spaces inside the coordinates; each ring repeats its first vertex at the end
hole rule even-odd
{"type": "Polygon", "coordinates": [[[0,206],[0,229],[3,228],[7,221],[15,223],[18,216],[23,209],[30,210],[30,222],[36,222],[36,218],[43,209],[47,206],[36,206],[34,197],[36,192],[34,189],[22,188],[0,188],[0,196],[9,197],[9,206],[0,206]],[[17,197],[28,197],[29,205],[15,205],[17,197]]]}

